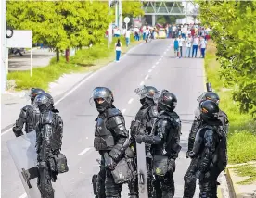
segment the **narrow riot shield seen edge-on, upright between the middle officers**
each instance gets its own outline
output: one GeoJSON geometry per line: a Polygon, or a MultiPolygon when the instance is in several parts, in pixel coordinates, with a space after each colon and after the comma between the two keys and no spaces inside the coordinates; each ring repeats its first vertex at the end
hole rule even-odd
{"type": "Polygon", "coordinates": [[[145,143],[136,143],[139,198],[148,198],[145,143]]]}

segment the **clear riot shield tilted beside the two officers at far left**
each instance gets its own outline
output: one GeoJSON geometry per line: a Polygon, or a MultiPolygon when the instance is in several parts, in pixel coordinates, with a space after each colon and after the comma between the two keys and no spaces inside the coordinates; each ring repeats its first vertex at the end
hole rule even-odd
{"type": "MultiPolygon", "coordinates": [[[[36,133],[32,131],[18,138],[7,142],[10,155],[17,167],[19,177],[27,192],[28,198],[41,198],[41,194],[37,188],[37,154],[35,151],[36,133]]],[[[52,182],[55,190],[55,197],[63,197],[66,195],[60,185],[59,180],[52,182]]]]}

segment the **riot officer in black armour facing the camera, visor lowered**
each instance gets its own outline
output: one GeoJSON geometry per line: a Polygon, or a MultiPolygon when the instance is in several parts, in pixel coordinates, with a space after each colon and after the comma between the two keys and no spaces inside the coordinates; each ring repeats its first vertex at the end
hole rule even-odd
{"type": "MultiPolygon", "coordinates": [[[[125,150],[130,143],[129,134],[125,128],[122,113],[112,105],[114,98],[108,88],[97,87],[93,92],[92,99],[99,112],[96,118],[94,147],[102,156],[102,166],[105,167],[105,194],[107,198],[120,198],[122,184],[115,183],[111,170],[115,169],[115,166],[124,157],[125,150]]],[[[102,180],[97,180],[97,186],[100,183],[102,180]]]]}

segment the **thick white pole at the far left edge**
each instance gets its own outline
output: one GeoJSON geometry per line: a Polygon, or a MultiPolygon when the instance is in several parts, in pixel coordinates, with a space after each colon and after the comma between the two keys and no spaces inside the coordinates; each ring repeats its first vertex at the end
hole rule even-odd
{"type": "Polygon", "coordinates": [[[6,0],[1,0],[1,93],[6,92],[6,0]]]}

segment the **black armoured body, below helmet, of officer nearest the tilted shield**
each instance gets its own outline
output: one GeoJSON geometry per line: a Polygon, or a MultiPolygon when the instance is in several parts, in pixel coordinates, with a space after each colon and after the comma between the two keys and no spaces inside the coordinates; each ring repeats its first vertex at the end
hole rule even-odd
{"type": "Polygon", "coordinates": [[[55,182],[57,180],[58,173],[68,171],[66,157],[60,154],[62,135],[62,118],[51,110],[44,111],[36,128],[36,151],[39,172],[37,186],[42,198],[54,198],[54,189],[51,181],[55,182]]]}

